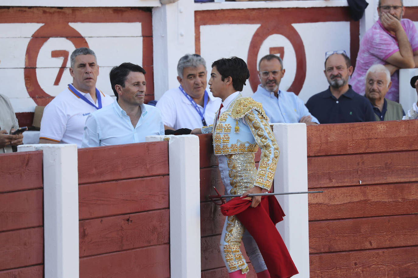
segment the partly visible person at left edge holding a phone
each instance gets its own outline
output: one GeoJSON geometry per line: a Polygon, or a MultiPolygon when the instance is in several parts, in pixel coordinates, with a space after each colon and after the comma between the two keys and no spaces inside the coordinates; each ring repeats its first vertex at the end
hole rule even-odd
{"type": "MultiPolygon", "coordinates": [[[[14,146],[23,144],[23,134],[12,135],[19,128],[10,100],[0,94],[0,153],[11,153],[14,146]]],[[[16,148],[16,147],[14,147],[16,148]]]]}

